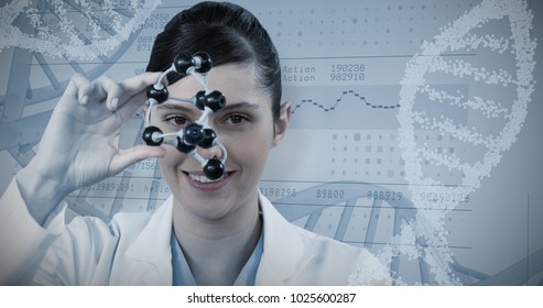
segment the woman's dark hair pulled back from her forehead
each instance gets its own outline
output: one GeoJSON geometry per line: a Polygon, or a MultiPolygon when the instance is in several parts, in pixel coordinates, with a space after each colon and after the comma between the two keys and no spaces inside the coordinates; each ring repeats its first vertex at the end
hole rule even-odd
{"type": "MultiPolygon", "coordinates": [[[[164,72],[178,54],[197,52],[208,53],[214,66],[253,64],[259,84],[270,92],[273,119],[279,119],[279,55],[268,32],[252,13],[228,2],[200,2],[177,13],[156,36],[146,70],[164,72]]],[[[182,76],[173,74],[167,78],[173,84],[182,76]]]]}

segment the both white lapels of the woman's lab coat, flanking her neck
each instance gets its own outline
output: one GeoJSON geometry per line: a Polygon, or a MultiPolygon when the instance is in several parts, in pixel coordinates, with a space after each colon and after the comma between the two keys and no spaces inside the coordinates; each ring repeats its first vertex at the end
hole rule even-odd
{"type": "MultiPolygon", "coordinates": [[[[296,276],[315,254],[306,249],[301,237],[296,237],[296,227],[286,221],[264,196],[259,195],[259,200],[263,215],[264,248],[256,284],[296,284],[296,276]]],[[[118,266],[124,268],[124,277],[134,277],[128,284],[172,285],[172,211],[173,197],[170,197],[142,223],[142,231],[127,249],[128,264],[118,266]],[[141,277],[141,282],[137,282],[137,277],[141,277]]]]}

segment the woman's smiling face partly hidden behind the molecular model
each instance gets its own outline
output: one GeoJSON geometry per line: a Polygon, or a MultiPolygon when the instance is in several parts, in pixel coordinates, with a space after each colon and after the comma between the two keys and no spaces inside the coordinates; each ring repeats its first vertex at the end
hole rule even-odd
{"type": "MultiPolygon", "coordinates": [[[[283,109],[280,121],[273,121],[270,96],[259,87],[252,66],[217,66],[207,78],[209,88],[227,99],[222,110],[209,116],[209,125],[228,153],[225,175],[216,182],[207,179],[196,160],[170,145],[163,145],[167,154],[159,164],[174,206],[203,219],[219,219],[257,207],[260,176],[269,151],[284,134],[290,110],[283,109]]],[[[192,98],[199,90],[202,85],[194,77],[169,86],[171,98],[192,98]]],[[[163,132],[176,132],[200,114],[189,102],[169,100],[153,108],[151,123],[163,132]]],[[[197,151],[204,158],[221,155],[218,146],[197,151]]]]}

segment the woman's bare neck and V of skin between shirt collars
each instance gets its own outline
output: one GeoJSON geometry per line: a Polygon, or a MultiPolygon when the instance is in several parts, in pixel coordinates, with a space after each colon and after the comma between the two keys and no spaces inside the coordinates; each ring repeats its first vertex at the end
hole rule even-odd
{"type": "Polygon", "coordinates": [[[262,221],[258,200],[213,220],[174,202],[173,228],[197,285],[231,285],[258,243],[262,221]]]}

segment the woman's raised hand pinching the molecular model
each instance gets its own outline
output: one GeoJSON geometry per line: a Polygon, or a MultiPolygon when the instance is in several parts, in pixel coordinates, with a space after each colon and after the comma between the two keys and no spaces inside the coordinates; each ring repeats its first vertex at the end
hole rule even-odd
{"type": "Polygon", "coordinates": [[[119,148],[123,124],[145,102],[145,90],[159,76],[149,73],[120,84],[107,76],[93,82],[82,75],[72,78],[36,155],[15,177],[29,209],[50,205],[33,212],[37,221],[75,189],[113,176],[138,161],[165,154],[161,146],[143,144],[119,148]]]}

